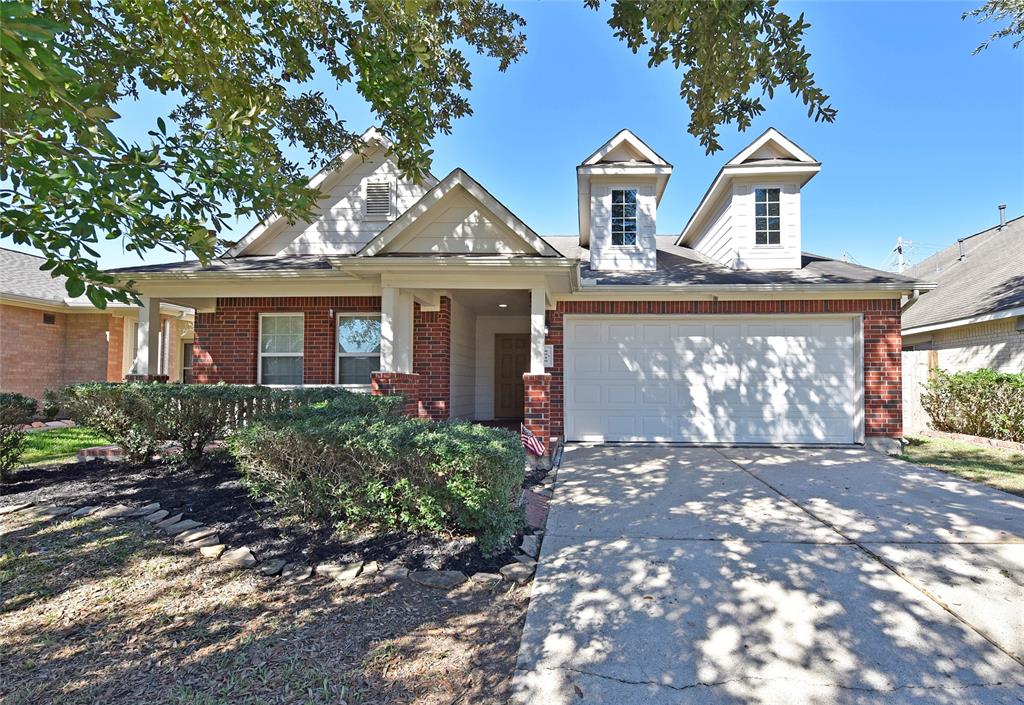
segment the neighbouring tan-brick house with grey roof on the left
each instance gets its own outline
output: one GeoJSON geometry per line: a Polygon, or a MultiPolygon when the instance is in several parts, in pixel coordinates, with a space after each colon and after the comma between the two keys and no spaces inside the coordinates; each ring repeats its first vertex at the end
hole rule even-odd
{"type": "MultiPolygon", "coordinates": [[[[0,248],[0,391],[41,400],[65,384],[124,379],[136,357],[137,307],[99,310],[85,297],[69,298],[65,279],[40,271],[42,263],[0,248]]],[[[173,380],[189,372],[194,319],[190,309],[162,306],[155,369],[173,380]]]]}

